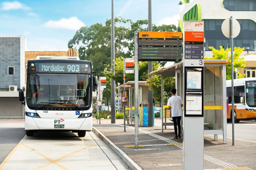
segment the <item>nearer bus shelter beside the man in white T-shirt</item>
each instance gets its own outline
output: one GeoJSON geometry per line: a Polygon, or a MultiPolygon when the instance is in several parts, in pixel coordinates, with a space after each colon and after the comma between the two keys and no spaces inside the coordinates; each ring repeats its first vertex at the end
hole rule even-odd
{"type": "MultiPolygon", "coordinates": [[[[214,140],[218,140],[218,135],[223,135],[223,143],[227,143],[226,64],[228,63],[226,60],[204,60],[204,135],[214,135],[214,140]]],[[[162,109],[163,77],[175,77],[177,95],[184,103],[183,62],[152,71],[149,75],[161,76],[162,109]]],[[[162,116],[162,132],[164,125],[170,124],[164,124],[162,116]]]]}

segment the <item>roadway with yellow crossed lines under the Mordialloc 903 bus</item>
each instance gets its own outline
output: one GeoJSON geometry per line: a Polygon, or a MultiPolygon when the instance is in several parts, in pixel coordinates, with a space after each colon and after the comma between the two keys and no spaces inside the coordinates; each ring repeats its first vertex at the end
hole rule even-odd
{"type": "Polygon", "coordinates": [[[0,121],[0,170],[127,169],[93,132],[39,132],[25,136],[24,121],[0,121]]]}

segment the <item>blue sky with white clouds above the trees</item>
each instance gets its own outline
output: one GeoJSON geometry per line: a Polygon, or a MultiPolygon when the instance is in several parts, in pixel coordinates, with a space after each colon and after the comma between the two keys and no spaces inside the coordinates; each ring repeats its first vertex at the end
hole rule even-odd
{"type": "MultiPolygon", "coordinates": [[[[175,24],[179,0],[152,0],[152,23],[175,24]]],[[[114,0],[114,16],[147,20],[148,0],[114,0]]],[[[24,35],[26,51],[67,51],[82,26],[111,18],[111,0],[0,0],[0,35],[24,35]]]]}

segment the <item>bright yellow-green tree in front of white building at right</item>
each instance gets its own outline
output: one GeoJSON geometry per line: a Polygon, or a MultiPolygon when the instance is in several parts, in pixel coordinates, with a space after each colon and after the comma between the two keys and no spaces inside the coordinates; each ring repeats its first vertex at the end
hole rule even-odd
{"type": "MultiPolygon", "coordinates": [[[[228,62],[231,62],[231,55],[228,56],[228,52],[231,51],[231,48],[224,49],[222,46],[220,46],[220,49],[215,49],[214,47],[209,47],[209,49],[212,50],[212,57],[205,57],[204,59],[208,60],[227,60],[228,62]]],[[[244,51],[244,48],[240,47],[234,47],[234,70],[235,68],[244,68],[245,67],[245,61],[244,57],[240,57],[242,52],[244,51]]],[[[239,73],[238,78],[244,78],[244,74],[239,73]]],[[[226,80],[231,79],[231,64],[227,64],[226,66],[226,80]]]]}

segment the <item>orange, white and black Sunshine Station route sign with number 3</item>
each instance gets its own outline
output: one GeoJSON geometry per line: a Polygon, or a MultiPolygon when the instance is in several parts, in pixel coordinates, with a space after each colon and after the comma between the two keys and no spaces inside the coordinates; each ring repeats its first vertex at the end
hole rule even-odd
{"type": "Polygon", "coordinates": [[[204,66],[203,21],[184,21],[184,65],[204,66]]]}

